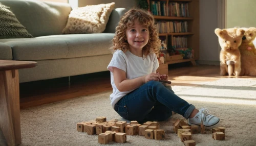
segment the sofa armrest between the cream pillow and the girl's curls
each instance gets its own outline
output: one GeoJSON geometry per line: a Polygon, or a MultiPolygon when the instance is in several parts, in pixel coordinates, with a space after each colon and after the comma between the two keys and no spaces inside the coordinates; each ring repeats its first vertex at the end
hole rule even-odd
{"type": "Polygon", "coordinates": [[[106,29],[103,33],[115,33],[116,27],[121,16],[126,12],[125,8],[116,8],[111,12],[108,23],[106,24],[106,29]]]}

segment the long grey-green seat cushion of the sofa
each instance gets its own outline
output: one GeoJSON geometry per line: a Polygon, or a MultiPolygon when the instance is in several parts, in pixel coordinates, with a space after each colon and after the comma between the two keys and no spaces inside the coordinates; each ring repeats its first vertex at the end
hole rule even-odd
{"type": "Polygon", "coordinates": [[[11,46],[14,60],[48,60],[111,54],[113,33],[52,35],[0,39],[11,46]]]}

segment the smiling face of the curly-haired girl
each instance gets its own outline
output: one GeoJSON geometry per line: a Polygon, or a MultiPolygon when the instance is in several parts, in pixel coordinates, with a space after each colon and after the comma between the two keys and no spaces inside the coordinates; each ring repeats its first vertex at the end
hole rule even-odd
{"type": "Polygon", "coordinates": [[[126,38],[130,45],[130,50],[142,50],[148,42],[148,28],[135,21],[133,26],[128,26],[126,30],[126,38]]]}

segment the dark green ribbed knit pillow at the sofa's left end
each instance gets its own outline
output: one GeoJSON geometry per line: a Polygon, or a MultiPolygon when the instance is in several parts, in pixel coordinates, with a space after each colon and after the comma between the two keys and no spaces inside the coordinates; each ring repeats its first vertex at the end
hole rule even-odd
{"type": "Polygon", "coordinates": [[[26,28],[18,21],[10,7],[0,3],[0,38],[31,38],[26,28]]]}

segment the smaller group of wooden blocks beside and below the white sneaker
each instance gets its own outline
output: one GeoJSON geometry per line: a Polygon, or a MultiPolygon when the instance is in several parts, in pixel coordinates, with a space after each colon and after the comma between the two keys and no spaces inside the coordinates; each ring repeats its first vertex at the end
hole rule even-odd
{"type": "MultiPolygon", "coordinates": [[[[196,141],[192,139],[192,134],[204,134],[205,127],[203,124],[201,124],[201,126],[188,126],[185,119],[177,119],[174,123],[174,132],[178,134],[178,137],[181,138],[181,141],[184,142],[184,145],[194,146],[196,145],[196,141]]],[[[215,140],[225,140],[225,128],[212,128],[212,138],[215,140]]]]}

